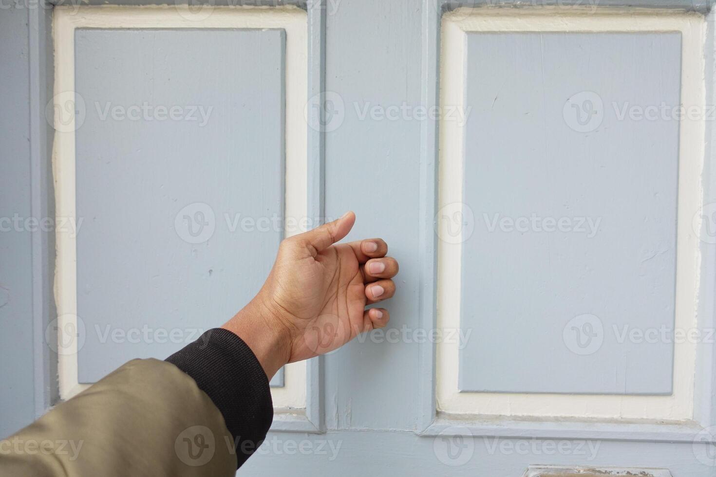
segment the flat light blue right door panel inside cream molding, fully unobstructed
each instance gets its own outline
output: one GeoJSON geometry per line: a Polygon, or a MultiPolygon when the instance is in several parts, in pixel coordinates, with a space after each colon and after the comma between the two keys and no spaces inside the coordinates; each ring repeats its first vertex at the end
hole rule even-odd
{"type": "Polygon", "coordinates": [[[468,34],[460,390],[669,394],[681,37],[468,34]],[[622,112],[626,111],[622,117],[622,112]],[[648,333],[648,332],[647,332],[648,333]]]}

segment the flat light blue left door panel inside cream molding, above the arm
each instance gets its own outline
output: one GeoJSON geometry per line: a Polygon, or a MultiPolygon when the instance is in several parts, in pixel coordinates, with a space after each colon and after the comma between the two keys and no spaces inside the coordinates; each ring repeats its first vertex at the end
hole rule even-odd
{"type": "Polygon", "coordinates": [[[284,31],[83,29],[75,49],[79,380],[92,383],[221,325],[268,275],[284,31]]]}

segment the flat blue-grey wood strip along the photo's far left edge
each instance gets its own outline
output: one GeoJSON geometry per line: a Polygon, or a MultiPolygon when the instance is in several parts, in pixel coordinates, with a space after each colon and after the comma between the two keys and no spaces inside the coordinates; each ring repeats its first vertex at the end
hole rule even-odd
{"type": "MultiPolygon", "coordinates": [[[[32,217],[29,143],[28,12],[4,11],[0,16],[0,89],[2,162],[0,176],[0,347],[17,365],[0,370],[0,433],[25,426],[34,418],[32,361],[32,232],[25,227],[32,217]],[[21,218],[13,225],[12,217],[21,218]]],[[[38,218],[39,220],[39,218],[38,218]]]]}

